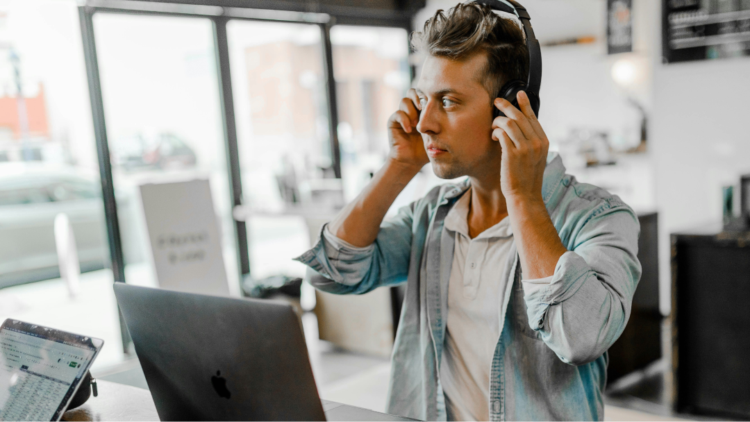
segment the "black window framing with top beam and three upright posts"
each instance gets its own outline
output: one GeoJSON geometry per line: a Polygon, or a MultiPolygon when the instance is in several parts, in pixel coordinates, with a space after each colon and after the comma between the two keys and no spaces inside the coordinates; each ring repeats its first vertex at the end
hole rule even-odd
{"type": "MultiPolygon", "coordinates": [[[[99,160],[104,216],[107,221],[107,238],[110,247],[110,260],[115,283],[124,283],[124,255],[120,235],[117,204],[110,162],[110,148],[107,143],[107,124],[104,118],[104,101],[101,93],[101,80],[97,59],[93,16],[96,13],[148,14],[157,16],[182,16],[210,19],[214,29],[215,61],[219,79],[220,107],[223,122],[223,135],[226,146],[226,162],[232,207],[242,205],[242,181],[239,165],[237,130],[235,121],[232,79],[229,72],[229,45],[226,24],[229,20],[259,20],[272,22],[292,22],[316,24],[320,27],[323,41],[323,69],[326,76],[326,97],[328,100],[329,133],[332,163],[336,178],[341,178],[341,152],[338,143],[338,107],[336,84],[333,72],[333,52],[331,28],[333,25],[368,25],[404,28],[412,31],[413,13],[424,7],[425,1],[395,0],[395,8],[381,9],[321,5],[315,7],[305,1],[260,1],[260,0],[177,0],[163,3],[159,1],[133,0],[89,0],[79,7],[83,54],[86,61],[86,74],[89,82],[89,97],[94,120],[94,133],[99,160]],[[254,8],[251,8],[254,7],[254,8]],[[311,10],[313,9],[313,10],[311,10]]],[[[365,1],[367,3],[367,1],[365,1]]],[[[412,75],[413,77],[413,75],[412,75]]],[[[239,274],[242,279],[251,273],[248,232],[244,221],[234,221],[235,241],[239,274]]],[[[130,335],[120,316],[120,328],[124,352],[130,350],[130,335]]]]}

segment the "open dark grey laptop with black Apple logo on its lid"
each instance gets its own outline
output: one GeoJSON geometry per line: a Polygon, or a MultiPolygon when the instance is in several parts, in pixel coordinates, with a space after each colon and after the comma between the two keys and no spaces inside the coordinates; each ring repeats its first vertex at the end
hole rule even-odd
{"type": "Polygon", "coordinates": [[[321,401],[292,307],[115,283],[159,418],[405,422],[321,401]]]}

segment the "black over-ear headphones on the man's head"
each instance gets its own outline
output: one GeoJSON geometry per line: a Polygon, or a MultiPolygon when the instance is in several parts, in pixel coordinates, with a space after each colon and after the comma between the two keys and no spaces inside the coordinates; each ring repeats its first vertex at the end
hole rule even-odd
{"type": "MultiPolygon", "coordinates": [[[[475,0],[478,4],[484,4],[489,6],[492,10],[499,10],[505,13],[511,13],[518,17],[523,25],[523,32],[526,34],[526,49],[529,50],[529,79],[523,82],[520,79],[513,79],[502,85],[498,98],[505,98],[509,103],[513,104],[514,107],[518,108],[518,100],[516,95],[518,91],[526,91],[526,95],[529,97],[531,108],[534,110],[535,115],[539,115],[539,88],[541,87],[541,49],[539,49],[539,41],[536,40],[534,35],[534,29],[531,27],[531,16],[526,12],[526,7],[523,7],[517,1],[514,0],[475,0]]],[[[499,115],[505,116],[497,107],[494,107],[493,117],[499,115]]]]}

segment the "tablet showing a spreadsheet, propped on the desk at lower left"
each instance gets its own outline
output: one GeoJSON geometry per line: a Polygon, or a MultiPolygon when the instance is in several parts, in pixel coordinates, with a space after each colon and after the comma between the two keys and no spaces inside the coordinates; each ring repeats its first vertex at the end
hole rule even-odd
{"type": "Polygon", "coordinates": [[[0,421],[59,421],[102,345],[6,319],[0,326],[0,421]]]}

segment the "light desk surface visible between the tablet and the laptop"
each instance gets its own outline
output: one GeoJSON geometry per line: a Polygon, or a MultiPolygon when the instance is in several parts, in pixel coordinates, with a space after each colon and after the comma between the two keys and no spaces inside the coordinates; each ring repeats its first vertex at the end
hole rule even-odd
{"type": "Polygon", "coordinates": [[[99,397],[65,412],[64,422],[159,422],[151,393],[130,385],[97,381],[99,397]]]}

